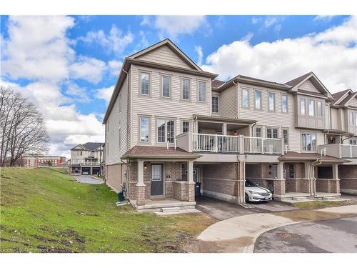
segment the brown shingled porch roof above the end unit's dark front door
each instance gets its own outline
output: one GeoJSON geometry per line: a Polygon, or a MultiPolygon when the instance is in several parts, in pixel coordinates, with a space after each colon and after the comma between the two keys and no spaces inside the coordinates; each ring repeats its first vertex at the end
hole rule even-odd
{"type": "Polygon", "coordinates": [[[160,146],[134,146],[128,152],[124,154],[121,159],[196,159],[201,157],[199,154],[193,154],[186,152],[185,150],[176,147],[160,147],[160,146]]]}

